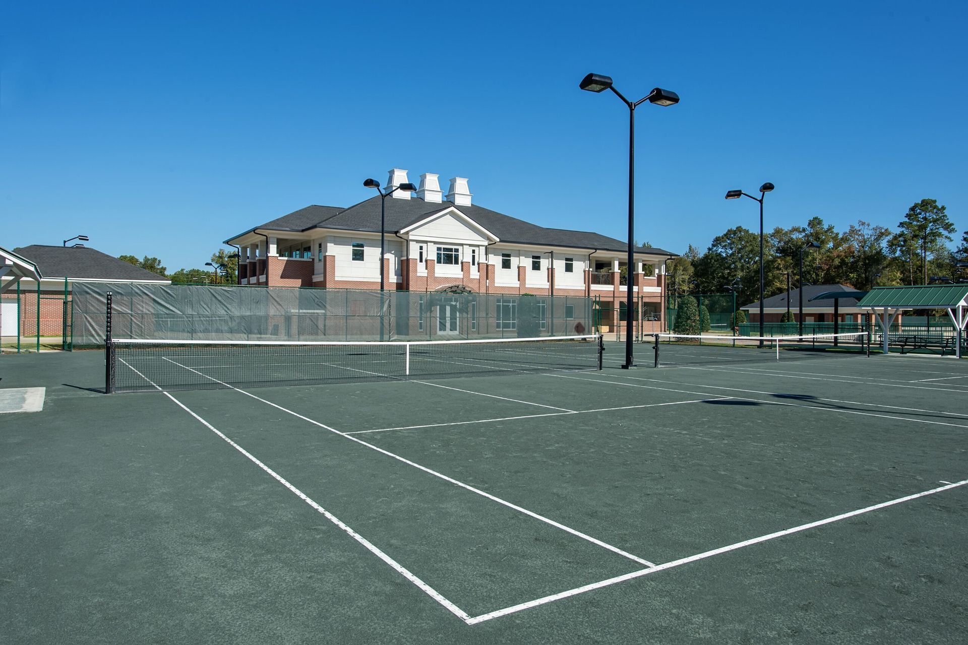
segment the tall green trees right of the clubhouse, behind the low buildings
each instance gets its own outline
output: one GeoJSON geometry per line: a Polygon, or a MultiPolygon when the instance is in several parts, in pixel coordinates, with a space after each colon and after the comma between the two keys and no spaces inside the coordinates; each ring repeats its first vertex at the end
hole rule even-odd
{"type": "MultiPolygon", "coordinates": [[[[911,206],[896,227],[859,220],[836,230],[817,216],[805,225],[777,226],[764,236],[766,297],[798,286],[802,252],[805,284],[874,286],[968,281],[968,231],[956,248],[955,226],[945,206],[923,199],[911,206]],[[809,245],[815,244],[819,248],[809,245]]],[[[723,293],[735,287],[742,305],[759,300],[760,236],[735,226],[713,238],[705,252],[689,246],[668,264],[673,294],[723,293]]]]}

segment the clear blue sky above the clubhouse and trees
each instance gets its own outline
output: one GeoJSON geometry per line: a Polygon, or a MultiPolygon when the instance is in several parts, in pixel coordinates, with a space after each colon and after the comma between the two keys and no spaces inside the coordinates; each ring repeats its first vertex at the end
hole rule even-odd
{"type": "MultiPolygon", "coordinates": [[[[968,3],[5,3],[0,246],[78,233],[200,267],[220,242],[373,176],[468,177],[475,203],[623,239],[626,108],[640,242],[895,225],[933,197],[968,228],[968,3]]],[[[444,189],[446,186],[444,185],[444,189]]]]}

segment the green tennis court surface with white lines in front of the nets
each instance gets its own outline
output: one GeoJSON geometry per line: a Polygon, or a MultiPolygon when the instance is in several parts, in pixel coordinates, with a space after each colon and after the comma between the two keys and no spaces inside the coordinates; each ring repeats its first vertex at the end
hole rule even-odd
{"type": "MultiPolygon", "coordinates": [[[[968,362],[104,395],[5,356],[11,643],[968,641],[968,362]]],[[[150,377],[150,375],[149,375],[150,377]]]]}

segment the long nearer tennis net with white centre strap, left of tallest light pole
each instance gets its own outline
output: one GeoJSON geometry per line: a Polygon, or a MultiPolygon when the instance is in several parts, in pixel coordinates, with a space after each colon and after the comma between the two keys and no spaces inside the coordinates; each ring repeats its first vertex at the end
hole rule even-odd
{"type": "Polygon", "coordinates": [[[112,339],[107,392],[203,390],[601,368],[598,336],[298,342],[112,339]]]}

